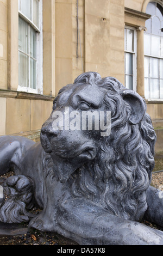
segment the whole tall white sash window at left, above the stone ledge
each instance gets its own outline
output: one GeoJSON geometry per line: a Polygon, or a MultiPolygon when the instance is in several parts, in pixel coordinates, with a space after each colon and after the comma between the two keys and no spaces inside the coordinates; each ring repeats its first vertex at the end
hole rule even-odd
{"type": "Polygon", "coordinates": [[[18,90],[42,93],[42,0],[19,0],[18,90]]]}

